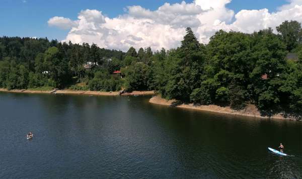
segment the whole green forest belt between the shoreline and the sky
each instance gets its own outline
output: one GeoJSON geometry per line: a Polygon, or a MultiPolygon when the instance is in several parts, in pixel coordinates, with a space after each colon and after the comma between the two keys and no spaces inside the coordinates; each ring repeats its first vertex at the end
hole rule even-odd
{"type": "Polygon", "coordinates": [[[156,90],[195,104],[255,104],[266,115],[301,115],[302,30],[285,21],[252,34],[218,31],[208,44],[191,28],[176,49],[127,52],[47,38],[0,37],[0,88],[156,90]],[[288,54],[296,57],[286,57],[288,54]]]}

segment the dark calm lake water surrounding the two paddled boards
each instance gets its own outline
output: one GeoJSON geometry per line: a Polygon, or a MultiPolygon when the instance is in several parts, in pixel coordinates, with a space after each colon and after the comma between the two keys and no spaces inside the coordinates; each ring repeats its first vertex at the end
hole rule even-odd
{"type": "Polygon", "coordinates": [[[0,178],[302,178],[301,122],[149,98],[0,93],[0,178]]]}

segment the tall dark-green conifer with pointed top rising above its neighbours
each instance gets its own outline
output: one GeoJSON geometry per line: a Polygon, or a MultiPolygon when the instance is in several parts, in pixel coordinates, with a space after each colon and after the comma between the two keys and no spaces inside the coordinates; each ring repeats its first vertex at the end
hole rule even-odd
{"type": "Polygon", "coordinates": [[[165,88],[159,89],[168,99],[189,101],[193,90],[200,87],[205,48],[197,41],[191,28],[186,31],[181,47],[169,51],[164,62],[164,73],[169,75],[165,79],[156,80],[166,84],[165,88]]]}

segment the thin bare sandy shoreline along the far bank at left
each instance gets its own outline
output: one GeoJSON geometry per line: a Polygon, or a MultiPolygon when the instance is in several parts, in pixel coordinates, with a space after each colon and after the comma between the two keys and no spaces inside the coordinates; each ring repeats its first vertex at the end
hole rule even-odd
{"type": "MultiPolygon", "coordinates": [[[[41,90],[7,90],[0,88],[0,92],[9,93],[36,93],[36,94],[79,94],[79,95],[96,95],[96,96],[119,96],[119,92],[103,92],[103,91],[77,91],[77,90],[51,90],[51,91],[41,91],[41,90]]],[[[133,96],[133,95],[154,95],[155,91],[132,91],[130,93],[123,93],[121,96],[133,96]]]]}

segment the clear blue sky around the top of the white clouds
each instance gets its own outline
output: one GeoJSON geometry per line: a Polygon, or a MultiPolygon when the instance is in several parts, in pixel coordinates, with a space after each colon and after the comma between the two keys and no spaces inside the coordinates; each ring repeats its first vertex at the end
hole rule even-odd
{"type": "MultiPolygon", "coordinates": [[[[49,27],[47,21],[54,16],[76,20],[81,10],[96,9],[110,18],[124,14],[127,6],[139,5],[156,10],[164,3],[180,3],[176,0],[1,0],[0,36],[37,36],[62,40],[68,30],[49,27]]],[[[190,3],[192,1],[186,1],[190,3]]],[[[263,9],[276,11],[277,7],[287,4],[285,0],[233,0],[226,7],[239,12],[242,9],[263,9]]]]}

